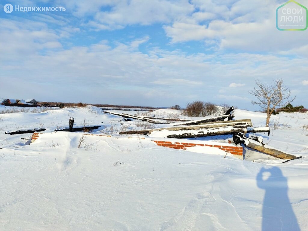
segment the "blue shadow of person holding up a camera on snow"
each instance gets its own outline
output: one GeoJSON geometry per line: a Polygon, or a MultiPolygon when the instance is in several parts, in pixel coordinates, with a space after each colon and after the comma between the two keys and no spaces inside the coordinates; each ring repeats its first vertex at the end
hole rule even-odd
{"type": "Polygon", "coordinates": [[[257,186],[265,190],[262,231],[300,231],[288,197],[287,178],[282,175],[280,168],[265,169],[262,167],[257,174],[257,186]],[[270,176],[264,180],[266,172],[269,172],[270,176]]]}

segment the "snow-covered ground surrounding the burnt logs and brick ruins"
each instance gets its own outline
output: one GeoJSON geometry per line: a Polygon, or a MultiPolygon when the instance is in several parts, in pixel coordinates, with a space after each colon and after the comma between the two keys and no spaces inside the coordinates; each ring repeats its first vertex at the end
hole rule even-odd
{"type": "MultiPolygon", "coordinates": [[[[177,110],[146,113],[190,119],[177,110]]],[[[265,126],[264,113],[234,115],[265,126]]],[[[270,136],[260,134],[303,156],[284,164],[255,152],[239,160],[116,135],[150,126],[143,123],[93,106],[0,114],[0,230],[308,230],[308,113],[272,115],[270,136]],[[70,117],[111,137],[53,132],[70,117]],[[5,134],[32,128],[47,130],[31,144],[32,133],[5,134]]]]}

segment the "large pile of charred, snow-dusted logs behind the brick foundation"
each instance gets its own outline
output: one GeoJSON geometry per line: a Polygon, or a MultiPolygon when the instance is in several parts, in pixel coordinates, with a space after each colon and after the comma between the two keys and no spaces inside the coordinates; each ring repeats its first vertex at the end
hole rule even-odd
{"type": "Polygon", "coordinates": [[[280,159],[294,159],[296,156],[285,153],[268,145],[263,144],[263,137],[249,134],[249,138],[245,137],[247,133],[266,132],[270,134],[269,127],[253,128],[250,119],[233,120],[232,115],[234,107],[230,107],[225,114],[217,115],[211,118],[202,120],[180,120],[180,119],[166,119],[160,117],[149,116],[134,116],[129,114],[119,114],[111,111],[105,111],[113,115],[118,115],[123,118],[130,118],[134,120],[147,121],[153,124],[170,124],[169,127],[131,130],[120,132],[120,135],[125,134],[141,134],[150,135],[151,137],[166,137],[166,138],[196,138],[204,136],[219,136],[219,135],[233,135],[233,141],[237,145],[244,145],[253,150],[274,156],[280,159]],[[184,122],[184,123],[183,123],[184,122]]]}

